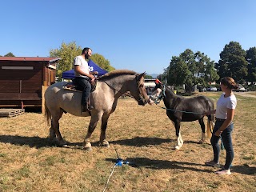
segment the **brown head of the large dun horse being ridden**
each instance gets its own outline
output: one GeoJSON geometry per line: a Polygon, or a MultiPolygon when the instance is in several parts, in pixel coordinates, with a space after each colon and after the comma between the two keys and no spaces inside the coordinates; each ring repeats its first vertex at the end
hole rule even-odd
{"type": "Polygon", "coordinates": [[[149,101],[149,97],[146,94],[146,87],[144,86],[144,76],[143,74],[136,74],[136,83],[137,83],[137,94],[134,94],[134,98],[138,101],[138,105],[145,106],[149,101]]]}

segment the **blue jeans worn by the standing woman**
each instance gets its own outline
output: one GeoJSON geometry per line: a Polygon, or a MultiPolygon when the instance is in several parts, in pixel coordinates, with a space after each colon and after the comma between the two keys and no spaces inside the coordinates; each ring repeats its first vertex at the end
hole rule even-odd
{"type": "Polygon", "coordinates": [[[231,163],[234,158],[234,150],[232,145],[231,133],[234,129],[233,122],[222,131],[221,137],[215,136],[214,133],[222,126],[223,121],[216,121],[214,126],[214,131],[212,137],[210,138],[210,143],[213,146],[214,150],[214,162],[219,162],[220,146],[218,144],[219,139],[222,137],[222,142],[226,150],[226,162],[224,165],[225,170],[229,170],[231,163]]]}

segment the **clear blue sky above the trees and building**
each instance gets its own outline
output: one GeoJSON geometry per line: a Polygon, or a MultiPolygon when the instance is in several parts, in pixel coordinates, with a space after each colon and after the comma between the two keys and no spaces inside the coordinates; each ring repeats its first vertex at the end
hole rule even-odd
{"type": "Polygon", "coordinates": [[[116,69],[159,74],[186,49],[218,62],[230,41],[256,46],[255,15],[254,0],[8,0],[0,55],[46,57],[76,42],[116,69]]]}

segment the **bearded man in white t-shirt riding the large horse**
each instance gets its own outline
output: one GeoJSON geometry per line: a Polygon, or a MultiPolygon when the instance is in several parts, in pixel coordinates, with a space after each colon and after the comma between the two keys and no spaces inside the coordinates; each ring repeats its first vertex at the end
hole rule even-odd
{"type": "Polygon", "coordinates": [[[82,112],[86,110],[92,110],[94,107],[88,105],[88,98],[90,98],[91,83],[94,83],[94,74],[98,74],[98,71],[90,72],[88,62],[92,54],[92,50],[86,47],[82,50],[82,54],[74,58],[74,84],[82,88],[82,112]]]}

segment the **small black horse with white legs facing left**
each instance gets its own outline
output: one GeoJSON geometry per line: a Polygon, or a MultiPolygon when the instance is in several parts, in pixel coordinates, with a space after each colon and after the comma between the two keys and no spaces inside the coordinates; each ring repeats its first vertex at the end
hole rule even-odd
{"type": "MultiPolygon", "coordinates": [[[[158,98],[163,99],[166,106],[166,114],[174,123],[177,136],[176,150],[179,150],[183,145],[182,134],[180,132],[181,122],[193,122],[198,120],[202,129],[202,139],[199,142],[205,142],[206,126],[203,121],[204,113],[208,110],[214,110],[214,102],[210,100],[210,98],[205,96],[184,98],[174,94],[174,91],[166,86],[162,86],[162,89],[158,89],[153,94],[159,94],[158,98]]],[[[214,127],[214,114],[208,116],[207,126],[210,136],[210,129],[214,127]]]]}

